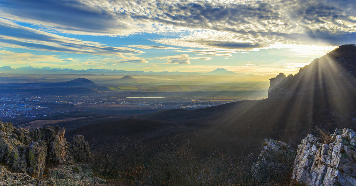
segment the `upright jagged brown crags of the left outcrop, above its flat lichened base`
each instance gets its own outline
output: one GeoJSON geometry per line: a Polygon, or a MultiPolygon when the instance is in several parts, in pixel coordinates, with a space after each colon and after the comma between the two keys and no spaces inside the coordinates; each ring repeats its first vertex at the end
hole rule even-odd
{"type": "Polygon", "coordinates": [[[90,148],[84,137],[75,135],[72,143],[67,143],[64,132],[59,126],[29,131],[0,122],[0,162],[42,178],[45,162],[61,165],[88,160],[90,148]]]}

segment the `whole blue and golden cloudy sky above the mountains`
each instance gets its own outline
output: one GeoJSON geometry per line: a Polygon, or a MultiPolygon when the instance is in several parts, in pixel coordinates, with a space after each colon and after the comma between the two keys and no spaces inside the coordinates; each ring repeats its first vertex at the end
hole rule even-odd
{"type": "Polygon", "coordinates": [[[0,67],[295,74],[356,43],[353,0],[0,0],[0,67]]]}

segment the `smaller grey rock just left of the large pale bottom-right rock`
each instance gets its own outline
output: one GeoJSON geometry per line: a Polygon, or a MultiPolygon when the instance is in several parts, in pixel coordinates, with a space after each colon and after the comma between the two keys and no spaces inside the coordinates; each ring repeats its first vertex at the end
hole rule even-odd
{"type": "Polygon", "coordinates": [[[258,161],[252,164],[251,172],[257,179],[263,178],[270,170],[277,173],[286,172],[292,168],[295,155],[293,148],[286,143],[264,139],[261,154],[258,161]]]}

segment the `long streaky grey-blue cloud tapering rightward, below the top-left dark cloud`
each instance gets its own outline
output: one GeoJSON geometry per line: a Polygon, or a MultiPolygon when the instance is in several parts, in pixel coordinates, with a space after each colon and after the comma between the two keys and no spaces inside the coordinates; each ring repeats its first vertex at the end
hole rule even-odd
{"type": "Polygon", "coordinates": [[[93,55],[141,54],[126,47],[110,47],[103,43],[82,41],[17,25],[0,18],[0,46],[39,51],[93,55]]]}

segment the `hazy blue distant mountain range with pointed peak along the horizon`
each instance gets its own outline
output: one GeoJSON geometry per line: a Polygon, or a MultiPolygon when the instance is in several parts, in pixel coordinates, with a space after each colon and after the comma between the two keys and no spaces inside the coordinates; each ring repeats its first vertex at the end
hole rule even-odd
{"type": "Polygon", "coordinates": [[[9,73],[9,74],[104,74],[104,75],[233,75],[236,74],[232,71],[225,70],[223,68],[218,68],[214,71],[208,73],[198,73],[198,72],[179,72],[179,71],[127,71],[127,70],[111,70],[111,69],[61,69],[61,68],[34,68],[31,66],[20,67],[20,68],[11,68],[9,66],[0,67],[0,73],[9,73]]]}

